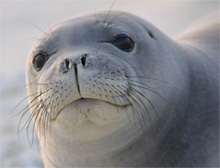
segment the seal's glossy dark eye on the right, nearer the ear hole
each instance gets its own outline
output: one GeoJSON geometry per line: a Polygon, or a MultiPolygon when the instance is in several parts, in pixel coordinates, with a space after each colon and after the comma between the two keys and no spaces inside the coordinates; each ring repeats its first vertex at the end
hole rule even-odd
{"type": "Polygon", "coordinates": [[[134,49],[134,41],[126,34],[117,35],[112,44],[120,50],[131,52],[134,49]]]}

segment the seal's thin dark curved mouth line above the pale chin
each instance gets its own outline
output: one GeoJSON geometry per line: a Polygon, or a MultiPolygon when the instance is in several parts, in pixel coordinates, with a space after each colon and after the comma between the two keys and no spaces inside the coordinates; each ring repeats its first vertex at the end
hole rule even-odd
{"type": "Polygon", "coordinates": [[[59,116],[59,114],[62,112],[63,109],[65,109],[66,107],[73,105],[73,104],[80,104],[80,103],[93,103],[94,101],[98,101],[98,102],[103,102],[103,103],[107,103],[111,106],[114,106],[116,108],[128,108],[129,106],[131,106],[131,103],[126,103],[126,104],[116,104],[116,103],[112,103],[110,101],[105,101],[105,100],[101,100],[101,99],[96,99],[96,98],[84,98],[81,97],[79,99],[76,99],[74,101],[72,101],[71,103],[67,104],[65,107],[63,107],[62,109],[60,109],[60,111],[57,113],[56,117],[51,119],[51,121],[55,121],[56,118],[59,116]]]}

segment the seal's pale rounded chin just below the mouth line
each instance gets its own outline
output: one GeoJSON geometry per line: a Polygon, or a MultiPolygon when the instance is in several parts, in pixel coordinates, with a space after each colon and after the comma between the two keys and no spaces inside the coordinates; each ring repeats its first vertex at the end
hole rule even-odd
{"type": "Polygon", "coordinates": [[[71,132],[74,135],[71,138],[76,141],[94,141],[112,134],[127,124],[130,106],[80,98],[65,106],[56,118],[51,120],[51,124],[61,136],[65,137],[71,132]]]}

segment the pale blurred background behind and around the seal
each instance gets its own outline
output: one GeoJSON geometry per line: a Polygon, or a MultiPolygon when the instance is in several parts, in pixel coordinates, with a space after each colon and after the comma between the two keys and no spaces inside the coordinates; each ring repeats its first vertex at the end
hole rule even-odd
{"type": "MultiPolygon", "coordinates": [[[[36,138],[31,147],[26,130],[17,133],[21,114],[27,105],[24,100],[25,64],[32,45],[59,21],[85,12],[109,10],[114,0],[64,0],[64,1],[2,1],[0,24],[0,165],[1,167],[43,167],[36,138]]],[[[201,17],[219,10],[218,0],[116,0],[112,10],[134,13],[157,26],[171,37],[192,25],[201,17]]],[[[24,116],[25,124],[29,112],[24,116]]],[[[31,135],[29,137],[31,139],[31,135]]]]}

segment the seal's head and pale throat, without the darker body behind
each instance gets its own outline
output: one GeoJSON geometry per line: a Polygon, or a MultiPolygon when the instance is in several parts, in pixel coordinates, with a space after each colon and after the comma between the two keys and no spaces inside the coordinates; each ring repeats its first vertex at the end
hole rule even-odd
{"type": "Polygon", "coordinates": [[[71,18],[45,33],[26,71],[45,166],[166,165],[159,145],[191,94],[186,53],[122,12],[71,18]]]}

